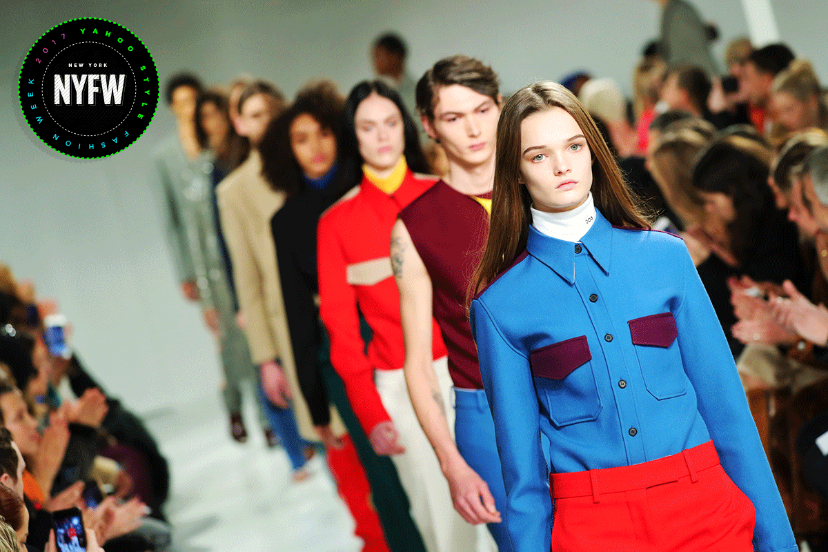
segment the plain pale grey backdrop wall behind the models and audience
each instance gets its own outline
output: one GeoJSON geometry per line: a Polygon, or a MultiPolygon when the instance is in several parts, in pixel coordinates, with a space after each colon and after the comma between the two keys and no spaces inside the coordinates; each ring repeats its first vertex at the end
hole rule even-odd
{"type": "MultiPolygon", "coordinates": [[[[695,0],[719,25],[715,46],[748,32],[739,0],[695,0]]],[[[825,0],[776,0],[782,36],[828,78],[825,0]]],[[[29,46],[60,22],[103,17],[128,27],[152,52],[161,79],[194,70],[225,84],[247,72],[288,96],[330,77],[347,92],[371,76],[368,46],[387,30],[405,36],[409,71],[445,55],[490,63],[503,92],[575,69],[610,76],[629,90],[645,42],[657,35],[649,0],[295,0],[293,2],[2,2],[0,44],[0,260],[54,296],[75,325],[74,343],[108,391],[137,410],[217,392],[209,334],[173,276],[148,190],[149,154],[173,129],[161,106],[136,144],[100,161],[73,161],[36,142],[17,103],[29,46]]]]}

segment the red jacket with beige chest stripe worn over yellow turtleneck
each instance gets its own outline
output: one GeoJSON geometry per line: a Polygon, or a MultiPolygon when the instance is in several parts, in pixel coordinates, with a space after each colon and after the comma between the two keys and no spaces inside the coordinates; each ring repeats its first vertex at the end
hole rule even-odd
{"type": "MultiPolygon", "coordinates": [[[[363,177],[322,214],[317,232],[320,316],[330,336],[330,362],[342,377],[354,413],[366,434],[391,420],[373,382],[373,371],[402,368],[406,353],[400,323],[400,296],[388,257],[397,214],[436,183],[407,170],[393,194],[363,177]],[[373,337],[368,348],[359,332],[363,314],[373,337]]],[[[432,322],[434,358],[445,345],[432,322]]]]}

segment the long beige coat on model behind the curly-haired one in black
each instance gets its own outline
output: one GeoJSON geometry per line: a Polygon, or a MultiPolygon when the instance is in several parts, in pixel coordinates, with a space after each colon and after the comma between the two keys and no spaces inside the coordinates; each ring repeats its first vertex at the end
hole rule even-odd
{"type": "MultiPolygon", "coordinates": [[[[262,176],[258,151],[216,189],[224,241],[233,263],[239,310],[243,313],[253,362],[260,364],[282,358],[293,393],[293,410],[302,437],[318,440],[310,412],[299,389],[296,363],[293,360],[291,334],[287,326],[282,281],[276,260],[276,247],[270,220],[285,203],[285,194],[272,190],[262,176]]],[[[331,430],[345,433],[339,415],[331,406],[331,430]]]]}

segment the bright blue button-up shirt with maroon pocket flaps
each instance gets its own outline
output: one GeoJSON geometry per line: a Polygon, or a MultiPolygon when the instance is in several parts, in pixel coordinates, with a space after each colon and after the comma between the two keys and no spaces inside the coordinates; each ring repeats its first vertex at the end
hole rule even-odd
{"type": "Polygon", "coordinates": [[[755,549],[797,550],[727,341],[680,238],[614,228],[600,213],[578,243],[530,227],[527,251],[470,314],[515,552],[549,550],[548,471],[643,463],[710,439],[756,508],[755,549]]]}

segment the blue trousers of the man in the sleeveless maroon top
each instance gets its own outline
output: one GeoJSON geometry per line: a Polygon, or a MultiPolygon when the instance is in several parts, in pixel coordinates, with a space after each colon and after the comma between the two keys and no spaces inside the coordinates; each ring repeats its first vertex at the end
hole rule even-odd
{"type": "MultiPolygon", "coordinates": [[[[494,441],[494,422],[486,392],[482,389],[458,389],[455,387],[455,440],[460,455],[489,485],[494,505],[503,515],[506,506],[506,488],[500,469],[498,445],[494,441]]],[[[498,544],[499,552],[511,552],[512,541],[506,524],[489,523],[489,532],[498,544]]]]}

